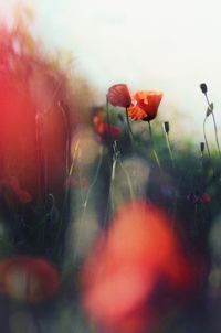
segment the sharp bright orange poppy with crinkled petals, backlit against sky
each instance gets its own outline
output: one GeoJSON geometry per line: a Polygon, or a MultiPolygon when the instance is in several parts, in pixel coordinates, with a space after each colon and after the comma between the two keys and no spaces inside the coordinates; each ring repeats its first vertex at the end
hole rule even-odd
{"type": "Polygon", "coordinates": [[[133,97],[131,106],[127,109],[129,118],[135,121],[155,119],[161,99],[160,92],[137,92],[133,97]]]}

